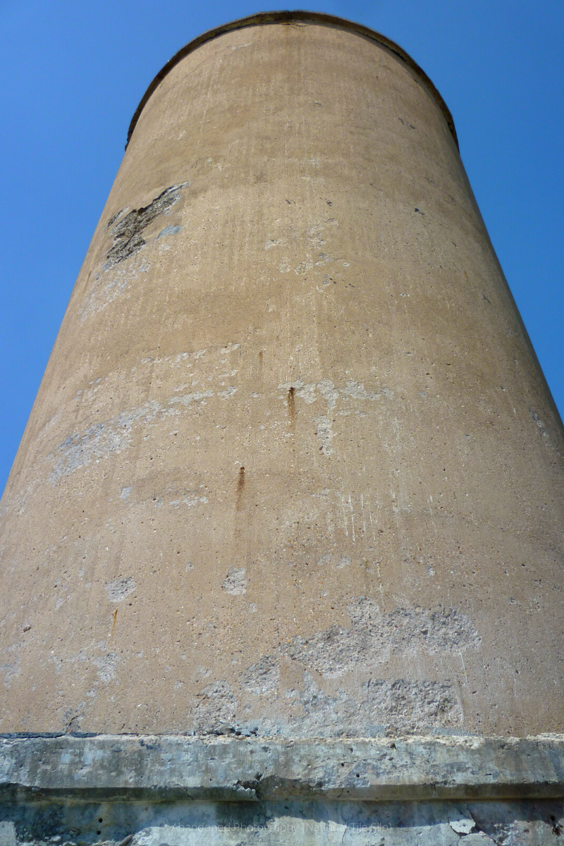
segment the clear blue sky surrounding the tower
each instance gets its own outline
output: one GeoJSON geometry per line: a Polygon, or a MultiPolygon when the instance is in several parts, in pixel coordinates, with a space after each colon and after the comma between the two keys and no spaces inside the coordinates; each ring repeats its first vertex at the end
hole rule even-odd
{"type": "MultiPolygon", "coordinates": [[[[145,88],[187,41],[275,7],[0,0],[0,490],[145,88]]],[[[441,91],[564,411],[564,3],[308,2],[397,41],[441,91]]]]}

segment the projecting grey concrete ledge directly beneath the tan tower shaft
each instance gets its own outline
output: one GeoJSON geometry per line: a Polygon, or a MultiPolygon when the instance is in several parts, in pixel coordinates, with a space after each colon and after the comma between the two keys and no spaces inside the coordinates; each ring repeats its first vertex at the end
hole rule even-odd
{"type": "Polygon", "coordinates": [[[558,799],[564,735],[4,735],[0,801],[558,799]]]}

